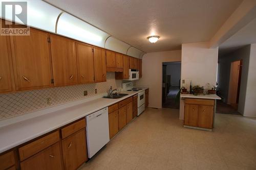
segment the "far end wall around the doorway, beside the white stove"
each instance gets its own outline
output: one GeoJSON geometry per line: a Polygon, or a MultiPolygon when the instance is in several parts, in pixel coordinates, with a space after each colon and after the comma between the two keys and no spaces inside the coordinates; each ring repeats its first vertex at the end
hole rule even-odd
{"type": "Polygon", "coordinates": [[[142,78],[136,85],[150,87],[149,107],[162,108],[162,63],[181,61],[181,51],[147,53],[142,58],[142,78]]]}

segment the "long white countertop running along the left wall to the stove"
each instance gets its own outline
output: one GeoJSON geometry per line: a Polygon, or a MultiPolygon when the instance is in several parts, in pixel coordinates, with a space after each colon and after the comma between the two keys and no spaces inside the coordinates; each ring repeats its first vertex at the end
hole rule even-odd
{"type": "Polygon", "coordinates": [[[36,111],[38,116],[35,116],[35,113],[29,113],[29,115],[4,119],[0,121],[0,125],[2,124],[0,126],[0,153],[129,98],[140,91],[122,91],[122,93],[129,95],[120,99],[104,99],[102,98],[103,95],[99,95],[97,98],[87,99],[83,103],[78,101],[77,103],[80,104],[71,107],[56,106],[58,110],[53,107],[51,108],[54,110],[52,112],[40,113],[40,111],[36,111]]]}

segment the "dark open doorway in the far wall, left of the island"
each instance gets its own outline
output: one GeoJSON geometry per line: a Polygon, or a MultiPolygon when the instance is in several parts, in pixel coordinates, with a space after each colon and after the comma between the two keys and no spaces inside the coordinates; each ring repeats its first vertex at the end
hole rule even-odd
{"type": "Polygon", "coordinates": [[[162,107],[179,109],[176,95],[180,89],[181,62],[163,62],[162,71],[162,107]]]}

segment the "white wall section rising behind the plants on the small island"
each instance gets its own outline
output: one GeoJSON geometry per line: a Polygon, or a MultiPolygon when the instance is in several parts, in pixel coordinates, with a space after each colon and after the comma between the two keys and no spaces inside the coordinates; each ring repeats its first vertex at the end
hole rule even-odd
{"type": "MultiPolygon", "coordinates": [[[[216,85],[218,48],[209,48],[209,42],[182,44],[181,80],[189,89],[192,86],[216,85]]],[[[181,84],[182,85],[182,84],[181,84]]],[[[180,102],[180,119],[184,119],[184,101],[180,102]]]]}

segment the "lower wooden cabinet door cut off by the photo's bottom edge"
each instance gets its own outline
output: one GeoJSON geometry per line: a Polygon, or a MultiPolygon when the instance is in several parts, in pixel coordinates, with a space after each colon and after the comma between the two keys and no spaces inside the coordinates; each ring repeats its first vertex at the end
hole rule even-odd
{"type": "Polygon", "coordinates": [[[59,142],[21,162],[20,168],[22,170],[62,169],[59,142]]]}

